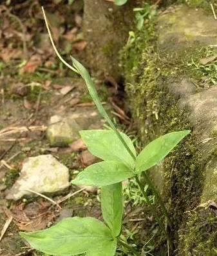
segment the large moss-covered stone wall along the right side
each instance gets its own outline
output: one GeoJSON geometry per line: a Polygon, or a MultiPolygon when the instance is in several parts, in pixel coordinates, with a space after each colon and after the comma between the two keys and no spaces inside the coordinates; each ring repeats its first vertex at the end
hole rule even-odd
{"type": "Polygon", "coordinates": [[[122,51],[144,145],[167,132],[192,131],[151,170],[173,219],[175,255],[216,255],[216,35],[212,12],[171,6],[122,51]]]}

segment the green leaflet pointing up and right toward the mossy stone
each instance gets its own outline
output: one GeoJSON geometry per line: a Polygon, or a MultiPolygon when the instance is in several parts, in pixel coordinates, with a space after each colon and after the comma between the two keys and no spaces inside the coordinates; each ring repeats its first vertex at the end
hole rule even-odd
{"type": "Polygon", "coordinates": [[[171,152],[171,150],[187,135],[189,130],[171,132],[151,141],[140,152],[136,160],[136,172],[143,172],[151,168],[171,152]]]}

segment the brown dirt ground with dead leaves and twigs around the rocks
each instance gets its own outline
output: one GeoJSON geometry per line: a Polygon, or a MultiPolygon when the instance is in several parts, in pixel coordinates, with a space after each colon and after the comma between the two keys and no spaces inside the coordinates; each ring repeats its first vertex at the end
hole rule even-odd
{"type": "MultiPolygon", "coordinates": [[[[71,54],[82,61],[86,47],[81,30],[82,2],[77,1],[75,5],[55,2],[58,1],[44,4],[55,42],[66,59],[71,54]]],[[[5,199],[5,192],[19,177],[25,159],[47,153],[65,164],[73,179],[87,164],[82,162],[80,152],[73,152],[70,147],[50,146],[46,137],[48,121],[60,112],[77,112],[82,117],[83,113],[95,110],[95,106],[84,82],[55,57],[44,26],[41,3],[31,0],[8,3],[3,1],[0,5],[0,255],[44,255],[32,250],[18,231],[43,229],[64,217],[76,215],[100,219],[99,190],[82,190],[61,202],[60,207],[42,197],[9,201],[5,199]]],[[[139,146],[133,121],[122,110],[120,95],[123,94],[117,84],[103,77],[95,81],[100,99],[118,128],[131,135],[139,146]]],[[[78,190],[71,186],[48,196],[57,202],[78,190]]],[[[133,182],[127,184],[125,196],[124,232],[133,244],[144,218],[139,206],[142,197],[133,182]],[[129,195],[129,186],[135,188],[132,195],[129,195]]],[[[117,255],[123,254],[117,252],[117,255]]]]}

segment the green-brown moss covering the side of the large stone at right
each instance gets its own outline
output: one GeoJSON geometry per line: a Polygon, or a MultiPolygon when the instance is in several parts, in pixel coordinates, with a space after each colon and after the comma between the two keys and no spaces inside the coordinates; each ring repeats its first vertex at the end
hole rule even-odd
{"type": "MultiPolygon", "coordinates": [[[[180,81],[184,76],[196,79],[197,83],[203,75],[187,65],[192,57],[198,61],[204,57],[205,49],[200,44],[175,51],[169,44],[159,49],[157,39],[155,22],[149,23],[121,52],[129,105],[138,124],[140,139],[145,144],[164,133],[191,130],[186,121],[187,113],[177,108],[177,99],[169,94],[167,84],[180,81]]],[[[204,89],[201,86],[198,90],[204,89]]],[[[164,196],[173,222],[171,235],[174,241],[179,240],[180,228],[189,228],[183,224],[188,219],[184,213],[193,210],[200,202],[205,164],[212,157],[202,157],[196,136],[194,133],[185,138],[162,164],[164,196]]],[[[144,232],[148,239],[148,231],[144,232]]],[[[193,239],[191,242],[198,243],[193,239]]],[[[159,251],[158,245],[154,255],[159,255],[159,251]]],[[[180,255],[187,254],[181,251],[180,255]]]]}

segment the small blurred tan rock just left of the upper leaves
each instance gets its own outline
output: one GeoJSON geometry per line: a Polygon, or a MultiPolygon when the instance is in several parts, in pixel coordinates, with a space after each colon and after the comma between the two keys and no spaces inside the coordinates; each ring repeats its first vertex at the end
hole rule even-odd
{"type": "Polygon", "coordinates": [[[48,126],[47,137],[51,146],[68,146],[79,139],[82,130],[74,119],[53,115],[48,126]]]}

